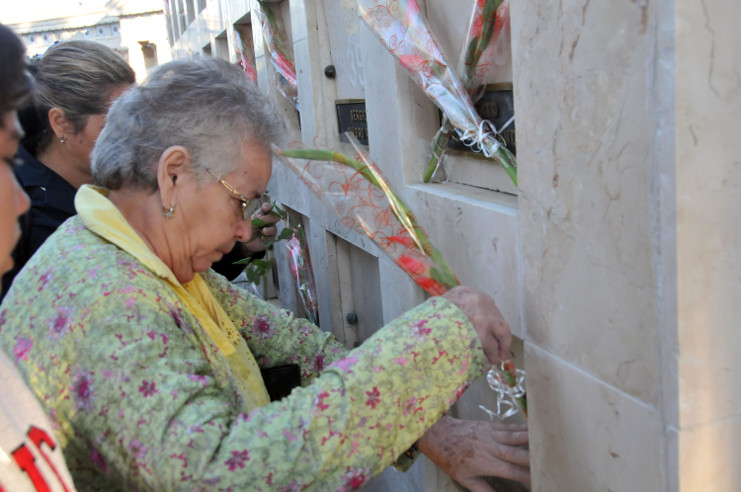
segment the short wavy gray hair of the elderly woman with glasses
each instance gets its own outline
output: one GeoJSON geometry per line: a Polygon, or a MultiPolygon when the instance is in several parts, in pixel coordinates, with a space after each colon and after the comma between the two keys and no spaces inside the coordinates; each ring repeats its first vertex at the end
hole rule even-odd
{"type": "Polygon", "coordinates": [[[155,68],[111,106],[92,155],[93,181],[108,189],[157,190],[157,163],[173,145],[206,168],[233,171],[242,142],[270,149],[283,129],[272,103],[238,67],[217,58],[175,60],[155,68]]]}

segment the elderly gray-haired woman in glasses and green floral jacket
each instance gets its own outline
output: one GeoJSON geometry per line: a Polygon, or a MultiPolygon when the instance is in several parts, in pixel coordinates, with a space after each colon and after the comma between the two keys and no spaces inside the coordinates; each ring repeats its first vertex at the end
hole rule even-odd
{"type": "Polygon", "coordinates": [[[210,270],[249,239],[280,131],[215,59],[163,65],[111,108],[96,186],[0,306],[78,488],[348,490],[416,448],[471,490],[527,482],[525,428],[441,418],[508,352],[490,297],[453,289],[348,352],[210,270]],[[301,387],[271,402],[260,368],[288,363],[301,387]]]}

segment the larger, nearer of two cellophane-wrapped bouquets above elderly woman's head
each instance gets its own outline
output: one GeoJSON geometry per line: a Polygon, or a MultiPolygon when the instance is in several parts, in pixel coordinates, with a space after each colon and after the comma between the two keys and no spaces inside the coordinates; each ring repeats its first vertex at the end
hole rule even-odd
{"type": "Polygon", "coordinates": [[[286,37],[278,26],[275,14],[270,6],[258,0],[260,8],[255,12],[262,26],[265,48],[270,54],[270,61],[275,69],[275,82],[278,92],[288,98],[299,109],[298,82],[293,57],[288,51],[286,37]]]}

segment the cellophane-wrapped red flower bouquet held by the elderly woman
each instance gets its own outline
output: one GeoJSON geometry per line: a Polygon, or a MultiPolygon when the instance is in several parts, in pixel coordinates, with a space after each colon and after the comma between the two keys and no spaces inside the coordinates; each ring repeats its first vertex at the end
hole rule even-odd
{"type": "MultiPolygon", "coordinates": [[[[352,157],[318,149],[274,151],[343,225],[372,239],[427,293],[438,296],[459,285],[458,278],[378,166],[354,135],[345,135],[352,145],[352,157]]],[[[517,378],[512,361],[508,359],[496,371],[502,373],[500,381],[507,385],[502,392],[511,395],[509,382],[516,382],[517,378]]],[[[517,395],[516,401],[527,412],[524,393],[517,395]]]]}

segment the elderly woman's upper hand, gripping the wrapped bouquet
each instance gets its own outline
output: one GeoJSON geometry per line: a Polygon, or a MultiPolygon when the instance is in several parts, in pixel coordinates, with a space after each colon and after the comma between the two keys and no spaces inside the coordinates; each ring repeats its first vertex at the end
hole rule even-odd
{"type": "Polygon", "coordinates": [[[494,299],[466,286],[453,287],[443,294],[468,316],[484,346],[484,355],[492,364],[509,357],[512,334],[494,299]]]}

